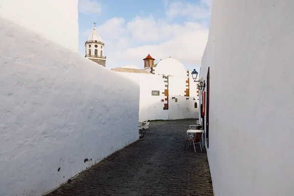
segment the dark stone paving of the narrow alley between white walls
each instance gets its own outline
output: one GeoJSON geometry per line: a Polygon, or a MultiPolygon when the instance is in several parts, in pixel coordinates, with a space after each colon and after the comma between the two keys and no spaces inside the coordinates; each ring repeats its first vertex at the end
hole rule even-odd
{"type": "Polygon", "coordinates": [[[196,120],[150,123],[144,138],[47,196],[213,196],[205,151],[184,151],[196,120]]]}

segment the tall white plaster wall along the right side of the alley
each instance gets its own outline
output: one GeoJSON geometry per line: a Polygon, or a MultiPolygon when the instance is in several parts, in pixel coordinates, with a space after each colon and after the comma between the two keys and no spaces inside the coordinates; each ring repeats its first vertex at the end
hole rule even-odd
{"type": "Polygon", "coordinates": [[[216,0],[208,160],[215,196],[293,196],[294,1],[216,0]]]}

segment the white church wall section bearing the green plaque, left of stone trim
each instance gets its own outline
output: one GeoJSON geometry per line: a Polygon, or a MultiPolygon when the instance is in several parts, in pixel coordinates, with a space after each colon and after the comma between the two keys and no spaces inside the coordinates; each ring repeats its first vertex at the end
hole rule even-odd
{"type": "Polygon", "coordinates": [[[139,120],[168,120],[169,111],[163,110],[164,103],[161,99],[165,99],[164,92],[165,83],[162,75],[154,75],[147,73],[125,73],[123,74],[140,84],[140,110],[139,120]],[[151,96],[151,91],[159,91],[159,96],[151,96]]]}

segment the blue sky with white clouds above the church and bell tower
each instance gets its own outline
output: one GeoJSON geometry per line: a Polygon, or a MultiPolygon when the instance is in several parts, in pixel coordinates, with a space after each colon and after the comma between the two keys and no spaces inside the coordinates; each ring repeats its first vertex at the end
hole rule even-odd
{"type": "Polygon", "coordinates": [[[199,70],[208,37],[212,0],[79,0],[79,53],[97,32],[105,43],[106,67],[143,68],[148,53],[155,63],[172,56],[186,69],[199,70]]]}

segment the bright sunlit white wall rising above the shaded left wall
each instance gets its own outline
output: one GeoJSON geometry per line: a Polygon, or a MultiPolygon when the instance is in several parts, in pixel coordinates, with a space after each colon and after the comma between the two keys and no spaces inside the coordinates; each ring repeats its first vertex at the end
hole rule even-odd
{"type": "Polygon", "coordinates": [[[78,0],[0,0],[0,17],[77,52],[77,4],[78,0]]]}

